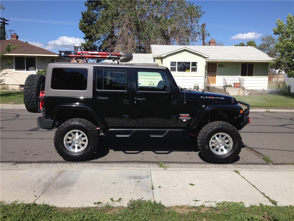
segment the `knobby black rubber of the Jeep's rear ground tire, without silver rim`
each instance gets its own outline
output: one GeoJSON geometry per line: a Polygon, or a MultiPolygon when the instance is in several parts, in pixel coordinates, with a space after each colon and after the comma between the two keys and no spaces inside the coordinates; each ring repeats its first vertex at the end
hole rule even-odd
{"type": "Polygon", "coordinates": [[[99,134],[98,134],[98,130],[96,129],[96,126],[90,121],[86,119],[82,119],[82,118],[73,118],[68,121],[65,121],[63,124],[59,126],[59,128],[57,129],[54,135],[55,149],[57,153],[66,161],[84,161],[86,159],[89,159],[95,153],[98,144],[99,144],[99,134]],[[88,129],[91,136],[91,137],[88,137],[88,139],[91,139],[91,145],[88,147],[87,151],[84,154],[81,154],[78,156],[74,156],[69,153],[66,154],[66,152],[64,152],[61,149],[61,146],[63,146],[63,143],[60,146],[60,142],[59,142],[59,139],[63,140],[63,137],[61,137],[61,133],[64,130],[66,130],[66,128],[70,126],[71,124],[77,124],[78,126],[88,129]]]}

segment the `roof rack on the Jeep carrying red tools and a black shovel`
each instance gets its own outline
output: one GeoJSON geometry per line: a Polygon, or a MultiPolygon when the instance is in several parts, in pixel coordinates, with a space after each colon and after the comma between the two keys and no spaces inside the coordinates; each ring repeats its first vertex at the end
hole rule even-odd
{"type": "Polygon", "coordinates": [[[95,52],[78,50],[80,46],[74,45],[74,51],[59,51],[60,57],[68,57],[77,59],[97,59],[97,60],[112,60],[119,62],[128,62],[133,59],[133,55],[127,51],[121,52],[95,52]],[[63,54],[62,54],[63,53],[63,54]]]}

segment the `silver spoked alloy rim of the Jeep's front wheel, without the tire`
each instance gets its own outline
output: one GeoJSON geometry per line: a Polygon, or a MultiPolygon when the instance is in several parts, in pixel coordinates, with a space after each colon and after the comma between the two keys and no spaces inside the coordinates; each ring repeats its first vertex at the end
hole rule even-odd
{"type": "Polygon", "coordinates": [[[217,133],[210,139],[209,147],[214,154],[223,156],[232,150],[233,140],[226,133],[217,133]]]}

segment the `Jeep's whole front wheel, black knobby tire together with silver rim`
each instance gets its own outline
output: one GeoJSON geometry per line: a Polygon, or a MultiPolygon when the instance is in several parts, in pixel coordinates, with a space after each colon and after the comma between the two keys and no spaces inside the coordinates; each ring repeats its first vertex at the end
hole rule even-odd
{"type": "Polygon", "coordinates": [[[198,134],[198,148],[214,164],[234,161],[242,148],[239,131],[229,123],[214,121],[204,126],[198,134]]]}

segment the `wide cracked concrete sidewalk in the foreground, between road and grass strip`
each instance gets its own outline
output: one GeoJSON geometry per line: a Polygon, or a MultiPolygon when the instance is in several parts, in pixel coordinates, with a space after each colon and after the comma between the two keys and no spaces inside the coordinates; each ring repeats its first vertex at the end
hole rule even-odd
{"type": "Polygon", "coordinates": [[[98,201],[126,206],[130,199],[143,197],[166,206],[222,201],[248,206],[273,205],[270,198],[278,205],[294,205],[293,169],[239,169],[239,173],[200,168],[1,168],[1,200],[86,207],[98,201]]]}

